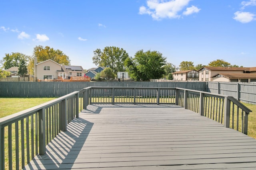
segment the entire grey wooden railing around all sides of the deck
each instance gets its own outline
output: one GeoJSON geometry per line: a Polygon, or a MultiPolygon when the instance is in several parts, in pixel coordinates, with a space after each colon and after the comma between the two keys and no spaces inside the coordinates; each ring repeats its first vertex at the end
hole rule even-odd
{"type": "Polygon", "coordinates": [[[89,104],[176,104],[247,134],[250,109],[230,96],[183,88],[88,87],[0,119],[0,169],[20,169],[89,104]]]}

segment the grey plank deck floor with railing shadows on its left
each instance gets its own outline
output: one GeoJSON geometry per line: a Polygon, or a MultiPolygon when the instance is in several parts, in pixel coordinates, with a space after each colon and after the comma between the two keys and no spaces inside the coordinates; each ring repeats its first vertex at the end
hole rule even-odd
{"type": "Polygon", "coordinates": [[[97,104],[24,169],[255,170],[256,139],[174,105],[97,104]]]}

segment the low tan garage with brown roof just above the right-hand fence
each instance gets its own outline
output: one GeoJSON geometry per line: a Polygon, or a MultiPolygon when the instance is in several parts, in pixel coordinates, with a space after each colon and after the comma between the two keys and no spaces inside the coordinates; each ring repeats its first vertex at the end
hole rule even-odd
{"type": "Polygon", "coordinates": [[[214,82],[256,82],[256,73],[219,73],[211,78],[214,82]]]}

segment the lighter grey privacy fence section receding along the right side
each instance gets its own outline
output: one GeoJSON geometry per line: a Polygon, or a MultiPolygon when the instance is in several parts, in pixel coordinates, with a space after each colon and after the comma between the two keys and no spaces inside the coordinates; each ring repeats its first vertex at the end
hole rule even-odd
{"type": "Polygon", "coordinates": [[[241,82],[207,82],[207,92],[233,96],[241,102],[256,104],[256,84],[241,82]]]}

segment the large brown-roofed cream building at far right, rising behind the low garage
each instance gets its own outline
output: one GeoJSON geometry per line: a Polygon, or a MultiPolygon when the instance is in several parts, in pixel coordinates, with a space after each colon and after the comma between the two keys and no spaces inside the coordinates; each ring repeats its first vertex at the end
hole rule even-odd
{"type": "MultiPolygon", "coordinates": [[[[256,67],[212,67],[212,66],[204,66],[199,72],[199,81],[213,81],[213,80],[220,80],[220,78],[214,78],[216,76],[220,76],[217,74],[234,74],[231,79],[235,76],[235,74],[241,74],[246,77],[245,74],[252,74],[256,73],[256,67]]],[[[224,76],[224,75],[222,75],[224,76]]],[[[229,75],[231,76],[231,75],[229,75]]],[[[238,76],[239,77],[239,76],[238,76]]],[[[237,79],[238,77],[234,77],[237,79]]],[[[245,78],[244,77],[244,78],[245,78]]],[[[239,79],[239,78],[238,78],[239,79]]],[[[245,78],[246,79],[246,78],[245,78]]]]}

